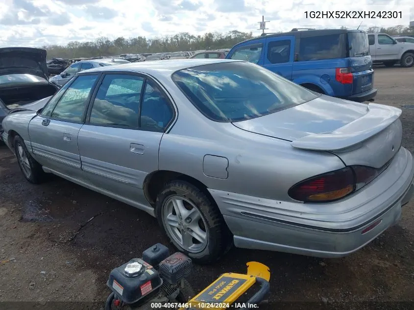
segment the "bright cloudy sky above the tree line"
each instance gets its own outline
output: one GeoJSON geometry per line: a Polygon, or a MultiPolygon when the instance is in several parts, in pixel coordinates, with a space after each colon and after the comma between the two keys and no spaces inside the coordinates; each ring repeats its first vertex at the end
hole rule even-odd
{"type": "Polygon", "coordinates": [[[0,47],[65,45],[104,36],[131,38],[189,32],[230,30],[260,34],[265,16],[267,32],[294,27],[360,29],[409,25],[413,0],[0,0],[0,47]],[[356,3],[357,2],[357,3],[356,3]],[[386,5],[386,6],[385,6],[386,5]],[[305,12],[326,10],[391,10],[397,19],[306,19],[305,12]]]}

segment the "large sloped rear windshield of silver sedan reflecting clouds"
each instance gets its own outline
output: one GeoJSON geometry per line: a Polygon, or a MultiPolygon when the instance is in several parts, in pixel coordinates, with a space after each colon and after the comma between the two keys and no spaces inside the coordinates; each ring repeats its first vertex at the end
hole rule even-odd
{"type": "Polygon", "coordinates": [[[173,81],[209,119],[254,119],[316,98],[313,92],[248,62],[222,62],[177,71],[173,81]]]}

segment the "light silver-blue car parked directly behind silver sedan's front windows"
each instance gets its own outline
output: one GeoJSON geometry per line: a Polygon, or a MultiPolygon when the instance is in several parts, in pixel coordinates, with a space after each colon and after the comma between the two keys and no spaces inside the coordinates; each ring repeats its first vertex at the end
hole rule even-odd
{"type": "Polygon", "coordinates": [[[129,64],[130,62],[125,59],[117,58],[102,58],[102,59],[92,59],[92,60],[81,60],[75,62],[73,65],[68,67],[64,72],[55,75],[50,78],[50,82],[58,84],[60,86],[65,85],[75,73],[88,70],[91,68],[112,66],[112,65],[121,65],[129,64]]]}

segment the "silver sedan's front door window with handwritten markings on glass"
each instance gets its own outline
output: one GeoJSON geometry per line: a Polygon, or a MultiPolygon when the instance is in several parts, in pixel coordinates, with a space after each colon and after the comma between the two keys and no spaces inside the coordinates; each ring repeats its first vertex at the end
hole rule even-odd
{"type": "Polygon", "coordinates": [[[68,87],[51,113],[52,118],[80,122],[98,75],[80,75],[68,87]]]}

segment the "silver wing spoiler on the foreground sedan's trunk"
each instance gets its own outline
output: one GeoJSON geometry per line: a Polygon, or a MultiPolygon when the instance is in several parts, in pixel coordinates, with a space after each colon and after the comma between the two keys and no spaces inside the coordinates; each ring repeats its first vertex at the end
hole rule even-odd
{"type": "Polygon", "coordinates": [[[361,143],[384,130],[401,116],[401,109],[369,103],[366,114],[345,126],[323,134],[311,134],[291,143],[293,147],[335,151],[361,143]]]}

